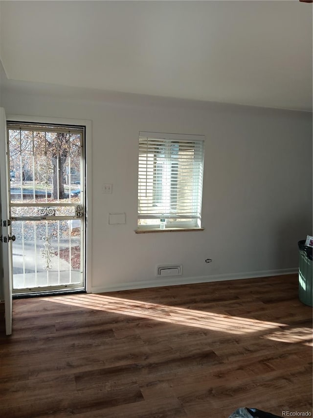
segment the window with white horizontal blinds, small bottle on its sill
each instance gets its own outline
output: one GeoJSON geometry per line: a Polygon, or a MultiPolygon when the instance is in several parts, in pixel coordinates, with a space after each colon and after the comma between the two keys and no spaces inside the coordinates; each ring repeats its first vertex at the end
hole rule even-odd
{"type": "Polygon", "coordinates": [[[201,227],[203,159],[202,135],[139,132],[139,229],[201,227]]]}

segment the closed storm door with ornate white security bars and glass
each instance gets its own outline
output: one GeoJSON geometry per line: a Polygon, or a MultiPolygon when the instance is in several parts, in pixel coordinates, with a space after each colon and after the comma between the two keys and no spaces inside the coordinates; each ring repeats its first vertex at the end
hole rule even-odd
{"type": "Polygon", "coordinates": [[[7,123],[13,294],[85,289],[84,128],[7,123]]]}

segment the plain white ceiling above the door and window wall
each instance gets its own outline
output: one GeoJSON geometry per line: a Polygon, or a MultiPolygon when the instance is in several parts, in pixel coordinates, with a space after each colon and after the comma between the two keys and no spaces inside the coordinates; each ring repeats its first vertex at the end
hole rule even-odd
{"type": "Polygon", "coordinates": [[[12,80],[312,110],[312,4],[0,1],[12,80]]]}

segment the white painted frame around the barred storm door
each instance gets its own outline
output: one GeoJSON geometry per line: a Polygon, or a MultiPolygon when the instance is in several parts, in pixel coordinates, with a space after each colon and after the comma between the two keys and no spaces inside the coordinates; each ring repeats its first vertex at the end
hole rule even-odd
{"type": "MultiPolygon", "coordinates": [[[[92,121],[85,119],[52,118],[44,116],[6,115],[7,121],[61,125],[79,125],[85,128],[85,169],[86,169],[86,229],[85,229],[85,278],[86,291],[91,293],[91,237],[92,237],[92,121]]],[[[8,186],[7,186],[8,187],[8,186]]],[[[12,279],[12,277],[11,277],[12,279]]],[[[11,280],[12,283],[12,280],[11,280]]]]}

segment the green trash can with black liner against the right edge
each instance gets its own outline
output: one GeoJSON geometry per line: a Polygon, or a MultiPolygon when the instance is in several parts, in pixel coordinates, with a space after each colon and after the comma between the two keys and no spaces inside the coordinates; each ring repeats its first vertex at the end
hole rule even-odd
{"type": "Polygon", "coordinates": [[[299,299],[308,306],[313,306],[312,264],[313,248],[304,245],[305,240],[298,242],[299,247],[299,299]]]}

